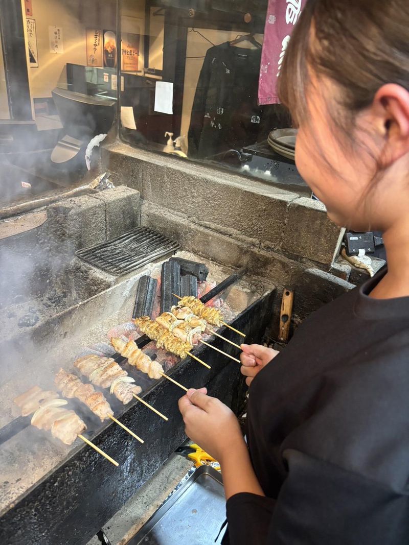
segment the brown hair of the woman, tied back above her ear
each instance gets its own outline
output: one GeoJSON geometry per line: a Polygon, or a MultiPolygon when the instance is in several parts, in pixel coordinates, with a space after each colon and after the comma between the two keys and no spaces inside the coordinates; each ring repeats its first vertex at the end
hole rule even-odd
{"type": "Polygon", "coordinates": [[[409,0],[307,0],[279,77],[296,124],[309,115],[311,74],[339,88],[330,116],[345,132],[383,84],[409,90],[409,0]]]}

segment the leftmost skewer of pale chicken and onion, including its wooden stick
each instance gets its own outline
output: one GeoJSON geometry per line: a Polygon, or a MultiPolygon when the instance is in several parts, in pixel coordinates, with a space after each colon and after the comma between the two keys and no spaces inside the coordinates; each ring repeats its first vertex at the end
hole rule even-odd
{"type": "Polygon", "coordinates": [[[62,408],[68,402],[59,398],[57,392],[44,391],[39,386],[33,386],[27,392],[16,397],[14,402],[22,409],[22,413],[24,412],[22,416],[34,413],[31,423],[36,428],[51,431],[52,436],[61,440],[65,445],[72,445],[75,439],[79,437],[118,467],[118,462],[82,435],[81,432],[85,431],[87,426],[73,410],[62,408]],[[34,398],[37,398],[38,401],[34,402],[34,398]],[[28,406],[30,406],[30,410],[28,406]],[[27,412],[28,410],[29,412],[27,412]]]}

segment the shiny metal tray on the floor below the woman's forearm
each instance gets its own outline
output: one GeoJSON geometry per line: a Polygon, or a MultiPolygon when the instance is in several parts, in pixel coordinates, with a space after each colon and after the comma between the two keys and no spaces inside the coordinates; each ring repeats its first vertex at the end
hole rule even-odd
{"type": "Polygon", "coordinates": [[[208,545],[215,541],[226,516],[218,471],[202,465],[176,488],[128,545],[208,545]]]}

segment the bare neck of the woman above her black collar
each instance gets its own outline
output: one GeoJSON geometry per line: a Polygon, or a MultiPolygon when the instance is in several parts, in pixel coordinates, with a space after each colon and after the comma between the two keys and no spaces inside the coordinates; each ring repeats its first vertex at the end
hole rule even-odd
{"type": "Polygon", "coordinates": [[[409,214],[382,236],[388,272],[369,295],[374,299],[409,296],[409,214]]]}

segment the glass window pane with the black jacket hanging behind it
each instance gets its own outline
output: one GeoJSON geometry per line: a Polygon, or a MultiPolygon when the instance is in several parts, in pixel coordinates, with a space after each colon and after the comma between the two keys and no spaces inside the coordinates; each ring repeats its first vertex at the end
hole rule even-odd
{"type": "Polygon", "coordinates": [[[302,184],[269,144],[291,119],[259,93],[268,15],[267,0],[121,0],[122,139],[271,181],[284,164],[302,184]]]}

